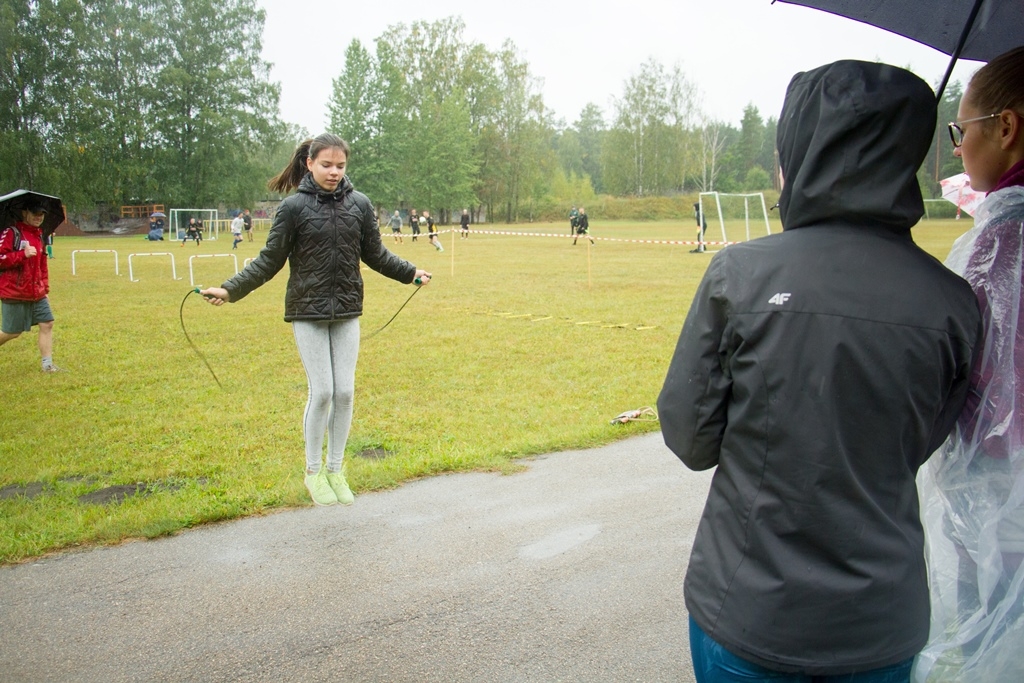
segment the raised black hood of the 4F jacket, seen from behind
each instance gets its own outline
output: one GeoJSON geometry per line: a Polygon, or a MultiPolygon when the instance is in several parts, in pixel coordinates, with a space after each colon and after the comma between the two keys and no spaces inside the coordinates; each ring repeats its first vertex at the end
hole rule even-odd
{"type": "Polygon", "coordinates": [[[783,229],[843,223],[907,232],[932,143],[935,94],[910,72],[843,60],[797,74],[778,122],[783,229]]]}

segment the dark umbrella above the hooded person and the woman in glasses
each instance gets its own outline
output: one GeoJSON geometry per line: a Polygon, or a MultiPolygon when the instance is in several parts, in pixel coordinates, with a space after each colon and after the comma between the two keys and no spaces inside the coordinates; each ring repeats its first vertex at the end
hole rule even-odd
{"type": "MultiPolygon", "coordinates": [[[[772,0],[774,4],[776,0],[772,0]]],[[[778,0],[885,29],[950,55],[941,98],[961,57],[988,61],[1024,45],[1020,0],[778,0]]]]}

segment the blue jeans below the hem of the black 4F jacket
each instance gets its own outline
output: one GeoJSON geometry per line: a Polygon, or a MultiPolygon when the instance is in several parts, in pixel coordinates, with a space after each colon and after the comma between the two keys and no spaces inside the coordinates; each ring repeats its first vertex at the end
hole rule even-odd
{"type": "Polygon", "coordinates": [[[909,683],[913,657],[899,664],[841,676],[786,674],[748,661],[712,640],[690,617],[690,656],[697,683],[909,683]]]}

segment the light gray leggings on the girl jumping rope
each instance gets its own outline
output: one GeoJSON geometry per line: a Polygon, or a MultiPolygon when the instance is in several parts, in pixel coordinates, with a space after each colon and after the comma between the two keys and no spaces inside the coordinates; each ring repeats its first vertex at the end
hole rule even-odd
{"type": "Polygon", "coordinates": [[[309,399],[302,418],[306,470],[319,472],[327,439],[327,469],[337,472],[345,457],[355,395],[355,360],[359,355],[359,318],[334,323],[292,323],[295,345],[306,371],[309,399]]]}

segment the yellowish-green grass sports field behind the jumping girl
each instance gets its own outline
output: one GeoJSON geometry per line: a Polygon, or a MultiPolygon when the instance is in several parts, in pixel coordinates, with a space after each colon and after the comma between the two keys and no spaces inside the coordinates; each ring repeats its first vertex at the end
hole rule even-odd
{"type": "MultiPolygon", "coordinates": [[[[690,240],[690,223],[595,221],[592,232],[690,240]]],[[[968,226],[931,221],[914,237],[943,258],[968,226]]],[[[483,229],[568,232],[566,222],[483,229]]],[[[265,237],[240,245],[240,266],[265,237]]],[[[681,245],[588,248],[567,238],[474,234],[455,240],[453,261],[452,236],[442,242],[438,253],[408,230],[401,245],[385,234],[434,281],[362,342],[346,458],[356,495],[442,472],[512,472],[522,456],[657,428],[609,421],[654,403],[710,255],[681,245]]],[[[282,321],[287,268],[238,304],[185,302],[185,326],[220,389],[185,342],[178,308],[189,290],[187,257],[232,253],[230,239],[179,244],[57,240],[49,263],[54,359],[68,372],[40,373],[35,331],[0,349],[0,562],[309,504],[306,382],[282,321]],[[72,251],[84,249],[117,250],[121,274],[112,254],[80,253],[72,275],[72,251]],[[182,280],[172,281],[170,259],[159,256],[133,259],[139,282],[129,282],[129,254],[161,251],[174,255],[182,280]]],[[[229,258],[193,265],[197,285],[233,272],[229,258]]],[[[366,337],[413,290],[364,275],[366,337]]]]}

